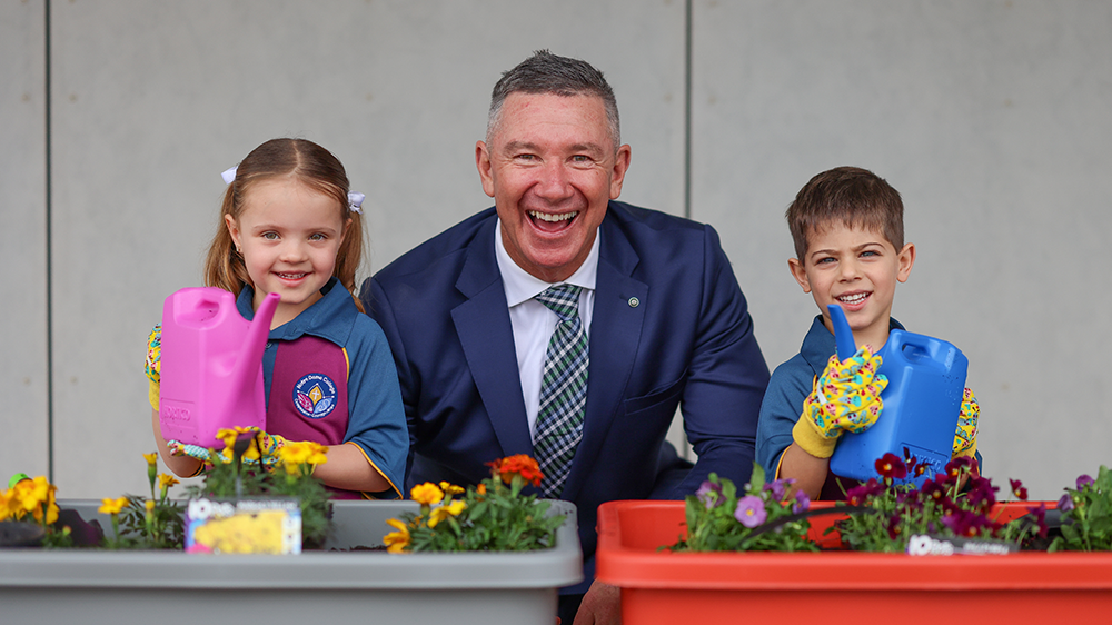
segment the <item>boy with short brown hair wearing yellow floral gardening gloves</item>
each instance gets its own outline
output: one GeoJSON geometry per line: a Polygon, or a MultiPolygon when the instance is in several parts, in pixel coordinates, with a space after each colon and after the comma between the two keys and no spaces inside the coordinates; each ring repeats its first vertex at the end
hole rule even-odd
{"type": "MultiPolygon", "coordinates": [[[[843,431],[864,431],[880,417],[880,394],[887,380],[874,375],[880,367],[874,354],[891,329],[903,329],[891,317],[892,299],[896,282],[906,281],[915,264],[915,245],[904,242],[900,194],[856,167],[812,178],[786,218],[796,254],[788,268],[822,314],[800,354],[772,375],[761,406],[756,459],[768,475],[795,479],[813,499],[843,499],[856,483],[832,474],[830,457],[843,431]],[[841,363],[834,356],[828,304],[845,311],[858,346],[841,363]]],[[[966,388],[954,457],[976,453],[977,414],[976,399],[966,388]]]]}

